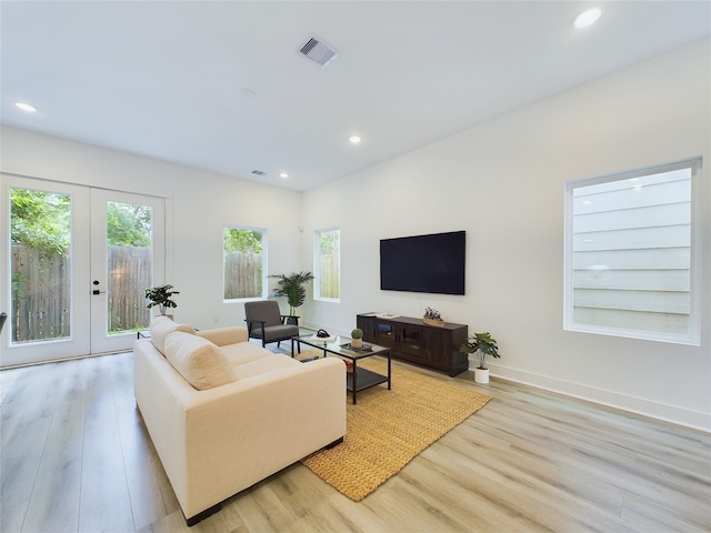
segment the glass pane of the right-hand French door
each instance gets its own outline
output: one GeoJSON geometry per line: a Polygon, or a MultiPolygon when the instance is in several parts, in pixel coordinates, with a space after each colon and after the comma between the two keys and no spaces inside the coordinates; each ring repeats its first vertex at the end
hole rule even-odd
{"type": "Polygon", "coordinates": [[[144,291],[153,271],[152,214],[150,205],[107,202],[109,334],[149,326],[144,291]]]}

